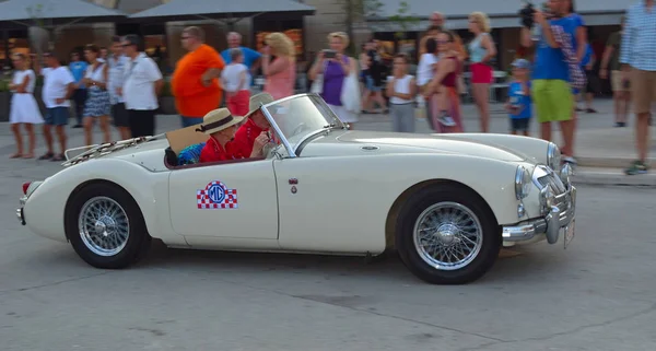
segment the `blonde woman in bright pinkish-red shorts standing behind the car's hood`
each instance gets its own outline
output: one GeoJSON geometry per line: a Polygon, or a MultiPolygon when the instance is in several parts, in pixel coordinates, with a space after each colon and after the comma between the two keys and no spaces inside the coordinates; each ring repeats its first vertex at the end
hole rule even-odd
{"type": "Polygon", "coordinates": [[[469,44],[469,69],[482,132],[490,131],[490,84],[494,79],[491,60],[496,57],[496,46],[490,31],[490,19],[487,14],[473,12],[469,15],[469,32],[476,36],[469,44]]]}

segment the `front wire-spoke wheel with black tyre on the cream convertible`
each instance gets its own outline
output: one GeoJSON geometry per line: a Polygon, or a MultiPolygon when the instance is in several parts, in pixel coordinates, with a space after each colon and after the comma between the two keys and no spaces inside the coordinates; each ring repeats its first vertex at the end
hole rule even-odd
{"type": "Polygon", "coordinates": [[[494,264],[501,234],[472,190],[453,184],[422,189],[399,214],[396,246],[408,269],[435,284],[465,284],[494,264]]]}

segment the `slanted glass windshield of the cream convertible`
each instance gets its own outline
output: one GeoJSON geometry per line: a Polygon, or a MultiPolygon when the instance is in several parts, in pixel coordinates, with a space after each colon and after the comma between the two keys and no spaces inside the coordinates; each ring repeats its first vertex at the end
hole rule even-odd
{"type": "Polygon", "coordinates": [[[343,127],[318,95],[292,96],[266,105],[265,108],[293,150],[305,137],[318,130],[343,127]]]}

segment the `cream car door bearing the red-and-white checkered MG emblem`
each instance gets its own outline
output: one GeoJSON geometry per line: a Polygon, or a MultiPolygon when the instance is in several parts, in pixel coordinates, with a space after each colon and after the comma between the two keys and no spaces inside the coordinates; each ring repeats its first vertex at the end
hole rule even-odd
{"type": "Polygon", "coordinates": [[[278,238],[271,160],[238,160],[174,169],[169,176],[174,231],[186,236],[278,238]]]}

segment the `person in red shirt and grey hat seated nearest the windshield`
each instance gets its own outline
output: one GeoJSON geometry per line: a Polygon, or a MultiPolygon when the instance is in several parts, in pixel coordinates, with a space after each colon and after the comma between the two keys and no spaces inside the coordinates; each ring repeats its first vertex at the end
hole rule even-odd
{"type": "MultiPolygon", "coordinates": [[[[271,125],[261,110],[261,105],[270,104],[273,97],[268,93],[260,93],[250,96],[249,112],[244,116],[245,122],[235,133],[233,148],[243,155],[250,157],[261,157],[263,148],[259,148],[258,139],[265,140],[263,144],[269,142],[269,128],[271,125]],[[254,147],[255,145],[255,147],[254,147]],[[259,148],[259,151],[255,151],[259,148]],[[255,149],[255,150],[254,150],[255,149]]],[[[262,144],[262,147],[263,147],[262,144]]]]}

